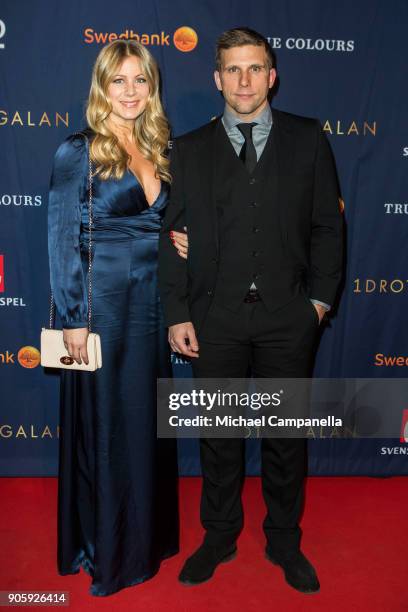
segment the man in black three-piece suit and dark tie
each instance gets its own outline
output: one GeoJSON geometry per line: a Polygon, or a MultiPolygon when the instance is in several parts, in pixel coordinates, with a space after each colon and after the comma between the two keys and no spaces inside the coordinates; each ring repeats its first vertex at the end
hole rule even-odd
{"type": "MultiPolygon", "coordinates": [[[[161,234],[159,285],[173,351],[195,377],[311,375],[319,324],[342,267],[335,165],[320,123],[270,108],[266,39],[248,28],[218,40],[221,118],[177,138],[161,234]],[[188,258],[171,246],[187,226],[188,258]]],[[[203,544],[179,579],[199,584],[236,554],[244,440],[201,439],[203,544]]],[[[319,590],[300,551],[306,440],[262,440],[266,557],[302,592],[319,590]]]]}

